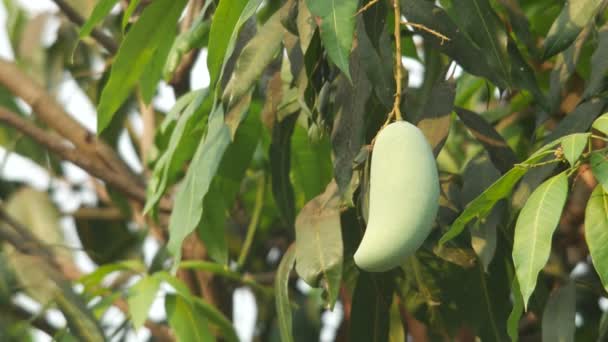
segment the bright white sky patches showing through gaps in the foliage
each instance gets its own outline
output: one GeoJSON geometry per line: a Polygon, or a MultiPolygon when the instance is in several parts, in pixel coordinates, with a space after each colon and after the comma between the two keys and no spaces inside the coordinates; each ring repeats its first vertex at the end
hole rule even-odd
{"type": "MultiPolygon", "coordinates": [[[[21,6],[28,10],[28,12],[34,16],[40,13],[57,12],[57,7],[50,0],[18,0],[21,6]]],[[[6,32],[6,19],[7,14],[4,5],[0,3],[0,57],[13,59],[14,55],[10,47],[6,32]]],[[[56,38],[56,29],[59,25],[59,19],[57,17],[51,18],[46,26],[45,33],[41,37],[41,43],[44,45],[50,45],[56,38]]],[[[206,51],[202,51],[199,59],[195,63],[193,68],[193,77],[191,80],[192,88],[198,89],[206,87],[209,84],[209,75],[206,68],[206,51]]],[[[409,85],[419,86],[422,83],[422,65],[413,59],[404,58],[404,65],[408,68],[409,74],[409,85]]],[[[57,94],[57,100],[64,105],[67,112],[72,114],[79,122],[81,122],[90,131],[95,132],[96,117],[95,107],[90,103],[88,98],[80,91],[76,82],[66,73],[65,78],[60,86],[57,94]]],[[[173,90],[162,85],[159,87],[158,96],[154,99],[154,104],[158,109],[167,111],[175,103],[175,96],[173,90]]],[[[27,109],[27,105],[24,105],[27,109]]],[[[136,130],[141,132],[142,125],[139,116],[134,114],[130,118],[136,130]]],[[[128,143],[126,135],[123,134],[119,141],[119,153],[127,160],[127,162],[135,169],[141,170],[141,164],[137,160],[136,154],[133,151],[131,145],[128,143]]],[[[4,158],[5,150],[0,148],[0,160],[4,158]]],[[[88,179],[87,174],[80,168],[65,163],[67,172],[67,178],[73,183],[83,183],[88,179]]],[[[62,212],[71,212],[76,210],[81,204],[94,204],[96,201],[95,192],[90,186],[85,186],[79,193],[74,193],[69,185],[52,182],[47,172],[36,165],[35,163],[16,156],[10,155],[7,161],[7,165],[4,168],[4,178],[11,180],[24,181],[31,184],[38,189],[47,189],[50,184],[57,189],[54,200],[60,207],[62,212]]],[[[76,234],[74,221],[70,217],[66,217],[62,220],[64,233],[66,236],[66,243],[70,247],[74,248],[76,264],[81,268],[83,272],[91,272],[94,270],[95,265],[88,258],[88,256],[80,251],[81,245],[76,234]]],[[[144,258],[146,262],[150,262],[154,253],[158,249],[158,244],[153,239],[147,239],[144,242],[144,258]]],[[[133,281],[135,281],[134,279],[133,281]]],[[[298,286],[302,291],[307,291],[307,286],[301,282],[298,286]]],[[[169,287],[165,289],[170,290],[169,287]]],[[[234,293],[234,308],[233,314],[234,321],[237,322],[237,331],[242,341],[250,341],[253,335],[256,306],[255,298],[251,291],[247,288],[241,288],[234,293]]],[[[38,312],[40,305],[33,300],[29,299],[25,295],[19,295],[16,299],[19,305],[27,308],[32,312],[38,312]]],[[[104,322],[110,324],[119,324],[123,319],[124,315],[117,309],[109,310],[108,314],[104,317],[104,322]]],[[[51,322],[57,325],[65,324],[65,319],[56,310],[50,310],[48,318],[51,322]]],[[[159,298],[154,302],[150,310],[150,318],[153,320],[164,319],[164,301],[162,294],[159,294],[159,298]]],[[[326,312],[322,316],[324,328],[321,331],[320,340],[332,341],[335,336],[335,330],[339,326],[342,319],[342,307],[340,303],[336,305],[334,312],[326,312]]],[[[131,341],[145,341],[149,337],[149,333],[145,328],[142,328],[138,334],[130,336],[131,341]]],[[[35,333],[36,341],[51,341],[50,337],[44,333],[35,333]]]]}

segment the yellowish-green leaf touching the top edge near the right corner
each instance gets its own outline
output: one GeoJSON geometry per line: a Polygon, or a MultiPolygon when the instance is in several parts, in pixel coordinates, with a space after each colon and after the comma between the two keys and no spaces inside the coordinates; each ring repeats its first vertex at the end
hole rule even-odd
{"type": "Polygon", "coordinates": [[[547,33],[543,59],[568,48],[583,27],[593,19],[601,3],[601,0],[566,1],[547,33]]]}

